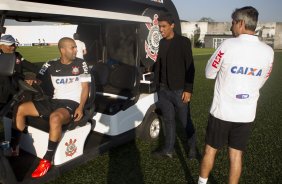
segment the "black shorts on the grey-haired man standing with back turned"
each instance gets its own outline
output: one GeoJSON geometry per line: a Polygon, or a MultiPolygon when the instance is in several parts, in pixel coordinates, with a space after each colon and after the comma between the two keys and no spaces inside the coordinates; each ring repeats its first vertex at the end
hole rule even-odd
{"type": "Polygon", "coordinates": [[[230,148],[244,151],[251,134],[252,123],[223,121],[210,114],[206,130],[206,144],[220,149],[226,144],[230,148]]]}

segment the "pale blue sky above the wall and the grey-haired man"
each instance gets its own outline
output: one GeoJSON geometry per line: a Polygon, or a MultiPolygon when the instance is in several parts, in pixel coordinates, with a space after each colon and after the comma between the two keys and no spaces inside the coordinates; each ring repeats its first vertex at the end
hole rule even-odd
{"type": "Polygon", "coordinates": [[[282,22],[282,0],[172,0],[181,20],[210,17],[216,22],[231,21],[236,8],[253,6],[260,22],[282,22]]]}

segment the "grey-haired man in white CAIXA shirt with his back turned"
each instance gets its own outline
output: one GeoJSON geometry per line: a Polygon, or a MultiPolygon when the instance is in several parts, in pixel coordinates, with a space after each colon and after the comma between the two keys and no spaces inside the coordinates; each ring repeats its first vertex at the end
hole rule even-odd
{"type": "Polygon", "coordinates": [[[207,63],[206,77],[216,78],[216,82],[199,184],[207,183],[217,150],[226,143],[230,160],[228,183],[239,183],[259,90],[271,73],[274,59],[273,49],[254,35],[258,14],[251,6],[236,9],[231,16],[231,31],[236,38],[225,40],[207,63]]]}

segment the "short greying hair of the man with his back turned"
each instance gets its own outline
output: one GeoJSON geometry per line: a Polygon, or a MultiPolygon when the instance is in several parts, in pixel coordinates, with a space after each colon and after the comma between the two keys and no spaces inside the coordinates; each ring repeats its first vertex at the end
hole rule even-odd
{"type": "Polygon", "coordinates": [[[231,17],[235,21],[244,20],[245,29],[255,31],[258,22],[258,11],[252,6],[245,6],[242,8],[237,8],[232,13],[231,17]]]}

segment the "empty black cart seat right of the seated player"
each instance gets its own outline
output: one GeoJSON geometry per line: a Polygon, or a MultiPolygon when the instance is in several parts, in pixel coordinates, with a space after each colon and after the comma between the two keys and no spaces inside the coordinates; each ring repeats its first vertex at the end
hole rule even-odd
{"type": "Polygon", "coordinates": [[[113,115],[136,102],[138,71],[135,66],[97,63],[93,66],[93,72],[97,88],[97,112],[113,115]]]}

